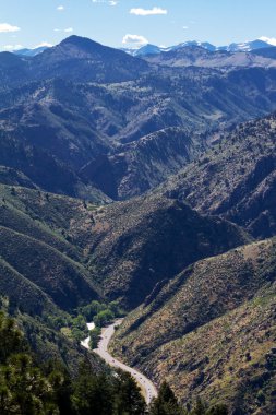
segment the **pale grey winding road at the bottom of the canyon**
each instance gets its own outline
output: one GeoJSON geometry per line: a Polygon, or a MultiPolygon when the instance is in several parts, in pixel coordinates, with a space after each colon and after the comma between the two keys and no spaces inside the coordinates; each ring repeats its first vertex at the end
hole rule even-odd
{"type": "MultiPolygon", "coordinates": [[[[143,395],[145,396],[146,404],[148,405],[152,399],[157,396],[157,389],[154,386],[154,383],[144,375],[142,375],[140,371],[117,360],[113,356],[111,356],[108,353],[108,345],[115,333],[115,327],[121,324],[122,321],[123,321],[122,319],[117,320],[115,323],[110,324],[108,328],[104,328],[101,330],[98,347],[95,348],[93,352],[96,353],[98,356],[100,356],[109,366],[119,368],[123,371],[128,371],[129,374],[131,374],[131,376],[135,379],[139,387],[141,388],[143,395]]],[[[89,325],[87,324],[87,327],[88,327],[88,330],[93,330],[95,325],[93,325],[92,323],[89,325]]],[[[82,345],[86,348],[89,348],[89,337],[85,339],[82,342],[82,345]]]]}

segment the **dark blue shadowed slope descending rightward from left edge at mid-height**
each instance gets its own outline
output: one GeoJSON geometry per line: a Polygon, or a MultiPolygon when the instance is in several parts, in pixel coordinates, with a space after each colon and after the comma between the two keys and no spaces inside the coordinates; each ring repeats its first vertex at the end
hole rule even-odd
{"type": "Polygon", "coordinates": [[[16,139],[13,134],[3,132],[0,149],[2,183],[31,186],[100,203],[109,201],[106,194],[92,182],[81,178],[69,165],[39,146],[22,142],[20,135],[16,139]],[[24,180],[15,179],[14,176],[24,177],[24,180]]]}

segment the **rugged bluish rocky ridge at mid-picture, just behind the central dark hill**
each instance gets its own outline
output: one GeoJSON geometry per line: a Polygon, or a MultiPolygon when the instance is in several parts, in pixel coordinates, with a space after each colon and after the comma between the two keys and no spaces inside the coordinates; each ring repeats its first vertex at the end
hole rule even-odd
{"type": "Polygon", "coordinates": [[[111,199],[129,199],[187,165],[204,146],[201,141],[183,128],[167,128],[120,145],[116,154],[85,165],[81,175],[111,199]]]}

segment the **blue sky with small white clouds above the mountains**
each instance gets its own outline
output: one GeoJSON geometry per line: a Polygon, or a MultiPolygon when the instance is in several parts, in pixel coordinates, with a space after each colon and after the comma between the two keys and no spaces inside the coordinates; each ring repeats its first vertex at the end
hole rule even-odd
{"type": "MultiPolygon", "coordinates": [[[[276,0],[0,0],[0,50],[70,35],[112,47],[276,38],[276,0]]],[[[275,40],[276,42],[276,40],[275,40]]]]}

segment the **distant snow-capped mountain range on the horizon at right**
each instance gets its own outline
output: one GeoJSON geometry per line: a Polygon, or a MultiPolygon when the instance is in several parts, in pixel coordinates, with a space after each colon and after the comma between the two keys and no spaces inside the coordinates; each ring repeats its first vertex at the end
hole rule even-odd
{"type": "Polygon", "coordinates": [[[215,46],[209,44],[208,42],[197,42],[197,40],[189,40],[181,43],[179,45],[170,46],[170,47],[159,47],[156,45],[144,45],[139,49],[122,49],[127,54],[130,54],[132,56],[147,56],[147,55],[158,55],[161,52],[168,52],[171,50],[178,50],[182,49],[185,47],[191,47],[191,46],[197,46],[202,47],[208,51],[219,51],[219,50],[225,50],[229,52],[237,52],[237,51],[252,51],[256,49],[263,49],[263,48],[271,48],[272,46],[275,46],[275,43],[267,38],[267,37],[262,37],[256,40],[251,40],[251,42],[243,42],[239,44],[230,44],[227,46],[215,46]]]}

